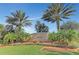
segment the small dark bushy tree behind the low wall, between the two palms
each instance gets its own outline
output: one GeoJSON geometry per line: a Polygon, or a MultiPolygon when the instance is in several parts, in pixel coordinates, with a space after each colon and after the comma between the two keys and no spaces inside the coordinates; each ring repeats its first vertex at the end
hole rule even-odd
{"type": "Polygon", "coordinates": [[[39,32],[48,32],[48,26],[46,26],[44,23],[41,23],[40,21],[37,21],[35,25],[36,31],[39,32]]]}

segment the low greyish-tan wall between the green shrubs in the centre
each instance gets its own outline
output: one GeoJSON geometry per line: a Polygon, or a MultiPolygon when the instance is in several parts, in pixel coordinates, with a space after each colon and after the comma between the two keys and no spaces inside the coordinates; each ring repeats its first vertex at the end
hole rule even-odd
{"type": "Polygon", "coordinates": [[[32,34],[34,40],[48,40],[48,33],[34,33],[32,34]]]}

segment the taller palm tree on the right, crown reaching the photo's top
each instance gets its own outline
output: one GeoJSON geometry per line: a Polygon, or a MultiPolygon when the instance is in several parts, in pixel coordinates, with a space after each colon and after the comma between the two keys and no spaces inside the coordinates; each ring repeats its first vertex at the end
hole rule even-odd
{"type": "Polygon", "coordinates": [[[69,19],[69,16],[73,15],[75,10],[71,4],[53,3],[45,11],[42,19],[48,22],[56,22],[57,30],[60,30],[60,21],[62,19],[69,19]]]}

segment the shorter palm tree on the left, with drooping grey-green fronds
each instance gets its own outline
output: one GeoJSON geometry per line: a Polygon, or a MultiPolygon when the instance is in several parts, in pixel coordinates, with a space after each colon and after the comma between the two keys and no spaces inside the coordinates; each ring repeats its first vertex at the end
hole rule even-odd
{"type": "Polygon", "coordinates": [[[22,27],[31,25],[31,21],[27,18],[25,12],[17,10],[15,13],[12,12],[11,16],[7,16],[7,23],[16,26],[17,31],[20,31],[22,27]]]}

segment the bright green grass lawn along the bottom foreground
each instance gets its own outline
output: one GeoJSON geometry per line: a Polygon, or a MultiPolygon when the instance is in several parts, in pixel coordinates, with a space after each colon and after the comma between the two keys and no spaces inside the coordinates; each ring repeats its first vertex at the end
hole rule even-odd
{"type": "Polygon", "coordinates": [[[73,55],[79,52],[42,51],[40,45],[17,45],[0,48],[0,55],[73,55]]]}

